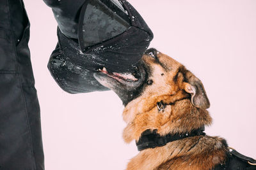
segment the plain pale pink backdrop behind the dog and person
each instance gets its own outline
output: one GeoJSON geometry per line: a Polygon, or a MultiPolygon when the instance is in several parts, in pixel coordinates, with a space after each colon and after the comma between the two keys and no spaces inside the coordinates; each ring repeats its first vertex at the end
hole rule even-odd
{"type": "MultiPolygon", "coordinates": [[[[57,0],[56,0],[57,1],[57,0]]],[[[61,0],[65,1],[65,0],[61,0]]],[[[130,0],[154,32],[150,46],[202,80],[211,101],[212,136],[256,158],[256,1],[130,0]]],[[[47,62],[56,21],[42,0],[24,0],[31,21],[31,61],[41,107],[47,170],[125,169],[136,155],[122,140],[124,107],[111,91],[67,94],[47,62]]]]}

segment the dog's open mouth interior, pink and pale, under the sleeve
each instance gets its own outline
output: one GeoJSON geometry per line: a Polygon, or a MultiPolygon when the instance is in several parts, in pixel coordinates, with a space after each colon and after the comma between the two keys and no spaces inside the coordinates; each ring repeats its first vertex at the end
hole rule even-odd
{"type": "Polygon", "coordinates": [[[134,82],[134,81],[138,81],[140,78],[140,73],[137,67],[135,68],[133,73],[115,73],[115,72],[111,73],[106,69],[106,67],[103,67],[102,69],[98,69],[98,71],[108,75],[109,77],[119,81],[120,83],[124,83],[124,81],[134,82]]]}

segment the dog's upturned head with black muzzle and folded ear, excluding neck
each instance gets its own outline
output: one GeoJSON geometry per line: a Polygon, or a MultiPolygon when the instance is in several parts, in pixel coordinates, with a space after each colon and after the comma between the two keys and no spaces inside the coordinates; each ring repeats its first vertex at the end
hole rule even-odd
{"type": "Polygon", "coordinates": [[[94,76],[113,90],[125,106],[138,97],[157,98],[170,103],[190,97],[197,108],[210,106],[202,82],[182,64],[154,48],[145,52],[134,73],[108,73],[104,68],[94,76]]]}

